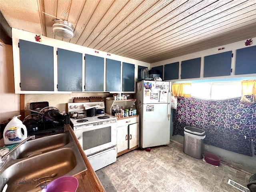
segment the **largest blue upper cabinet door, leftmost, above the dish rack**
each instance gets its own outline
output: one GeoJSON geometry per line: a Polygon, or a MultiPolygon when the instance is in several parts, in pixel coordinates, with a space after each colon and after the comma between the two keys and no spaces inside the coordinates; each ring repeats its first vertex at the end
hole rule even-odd
{"type": "Polygon", "coordinates": [[[20,90],[54,91],[53,47],[19,40],[20,90]]]}

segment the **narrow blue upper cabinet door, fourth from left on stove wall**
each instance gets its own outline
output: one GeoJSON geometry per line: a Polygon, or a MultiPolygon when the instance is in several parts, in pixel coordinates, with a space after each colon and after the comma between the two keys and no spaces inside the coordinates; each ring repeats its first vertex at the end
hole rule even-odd
{"type": "Polygon", "coordinates": [[[121,62],[106,59],[106,91],[121,91],[121,62]]]}

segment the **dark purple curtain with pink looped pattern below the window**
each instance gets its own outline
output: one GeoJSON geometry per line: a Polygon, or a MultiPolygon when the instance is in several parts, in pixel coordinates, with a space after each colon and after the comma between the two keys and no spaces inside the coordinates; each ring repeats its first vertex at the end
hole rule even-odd
{"type": "Polygon", "coordinates": [[[252,156],[253,143],[256,154],[256,103],[243,104],[240,98],[178,97],[173,121],[173,135],[184,136],[184,126],[201,128],[206,132],[206,144],[252,156]]]}

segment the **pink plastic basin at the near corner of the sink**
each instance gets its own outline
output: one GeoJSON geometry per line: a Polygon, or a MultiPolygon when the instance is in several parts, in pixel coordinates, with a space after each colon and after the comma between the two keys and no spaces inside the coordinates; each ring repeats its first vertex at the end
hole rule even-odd
{"type": "Polygon", "coordinates": [[[73,176],[57,178],[47,185],[41,192],[76,192],[78,180],[73,176]]]}

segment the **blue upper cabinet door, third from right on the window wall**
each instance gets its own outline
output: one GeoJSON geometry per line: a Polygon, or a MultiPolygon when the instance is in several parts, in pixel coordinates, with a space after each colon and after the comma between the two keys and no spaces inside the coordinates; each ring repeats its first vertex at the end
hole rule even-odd
{"type": "Polygon", "coordinates": [[[181,62],[181,79],[200,78],[201,58],[181,62]]]}

